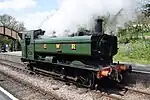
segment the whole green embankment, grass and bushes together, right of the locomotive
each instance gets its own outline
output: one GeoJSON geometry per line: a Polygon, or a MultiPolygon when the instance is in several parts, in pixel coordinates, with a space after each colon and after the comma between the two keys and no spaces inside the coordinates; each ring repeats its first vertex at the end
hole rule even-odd
{"type": "MultiPolygon", "coordinates": [[[[149,11],[150,4],[143,6],[142,12],[149,11]]],[[[118,54],[114,61],[150,64],[150,13],[138,13],[135,20],[125,23],[120,28],[118,37],[118,54]]]]}

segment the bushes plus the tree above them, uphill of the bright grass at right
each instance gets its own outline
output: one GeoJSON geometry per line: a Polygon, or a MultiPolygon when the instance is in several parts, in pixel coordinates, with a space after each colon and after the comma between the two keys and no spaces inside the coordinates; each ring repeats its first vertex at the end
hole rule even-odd
{"type": "Polygon", "coordinates": [[[125,23],[124,28],[120,28],[117,36],[119,43],[129,43],[132,41],[144,39],[143,33],[150,32],[150,4],[147,1],[141,1],[143,4],[137,9],[137,19],[125,23]]]}

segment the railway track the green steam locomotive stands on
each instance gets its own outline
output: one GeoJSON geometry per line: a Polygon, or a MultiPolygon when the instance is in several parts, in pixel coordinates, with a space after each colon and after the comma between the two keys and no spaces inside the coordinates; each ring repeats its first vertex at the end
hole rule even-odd
{"type": "MultiPolygon", "coordinates": [[[[59,76],[59,75],[53,75],[52,73],[49,73],[47,71],[40,70],[40,69],[35,69],[36,71],[32,72],[32,71],[30,71],[28,69],[25,69],[26,65],[21,64],[21,63],[17,63],[17,62],[12,62],[12,61],[7,61],[7,60],[2,60],[1,59],[0,64],[4,65],[4,66],[11,67],[14,70],[22,71],[22,72],[29,73],[29,74],[35,74],[36,73],[36,74],[40,74],[40,75],[43,75],[43,76],[46,76],[46,77],[59,76]]],[[[133,72],[133,73],[137,74],[138,72],[133,72]]],[[[141,72],[140,72],[140,74],[141,74],[141,72]]],[[[149,73],[144,73],[144,74],[149,74],[149,73]]],[[[59,79],[58,77],[55,77],[55,78],[59,79]]],[[[63,80],[61,78],[60,78],[60,80],[68,82],[68,80],[66,81],[66,80],[63,80]]],[[[119,84],[118,87],[124,89],[124,93],[126,93],[127,91],[132,91],[132,92],[135,92],[135,93],[140,93],[140,94],[144,94],[144,95],[149,95],[150,96],[150,93],[148,93],[148,92],[145,92],[145,91],[142,91],[142,90],[138,90],[138,89],[134,89],[134,88],[129,87],[129,86],[124,86],[124,85],[119,84]]],[[[109,98],[113,98],[113,99],[117,99],[117,100],[124,99],[123,96],[120,96],[120,95],[114,95],[114,94],[112,95],[112,94],[108,94],[108,93],[100,92],[100,91],[95,91],[95,90],[90,90],[90,91],[92,91],[98,97],[105,96],[105,97],[109,97],[109,98]]]]}

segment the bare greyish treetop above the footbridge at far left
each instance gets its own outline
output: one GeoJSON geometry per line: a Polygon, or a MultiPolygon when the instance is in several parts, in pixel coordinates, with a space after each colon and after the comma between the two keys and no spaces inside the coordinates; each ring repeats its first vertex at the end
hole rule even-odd
{"type": "Polygon", "coordinates": [[[0,15],[0,26],[8,27],[17,32],[26,30],[23,22],[19,22],[14,17],[7,14],[0,15]]]}

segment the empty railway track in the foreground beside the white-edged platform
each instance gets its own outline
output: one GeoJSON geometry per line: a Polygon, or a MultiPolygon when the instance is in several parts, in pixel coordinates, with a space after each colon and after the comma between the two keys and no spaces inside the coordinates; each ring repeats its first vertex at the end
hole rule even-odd
{"type": "Polygon", "coordinates": [[[0,72],[0,85],[15,95],[18,100],[59,100],[56,96],[45,94],[41,89],[0,72]]]}

